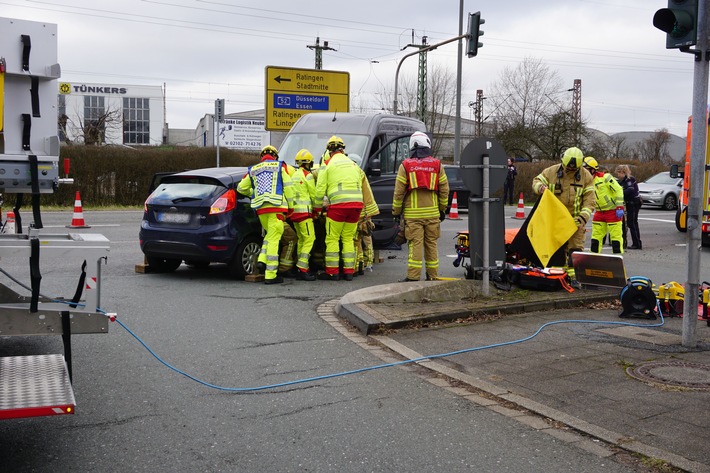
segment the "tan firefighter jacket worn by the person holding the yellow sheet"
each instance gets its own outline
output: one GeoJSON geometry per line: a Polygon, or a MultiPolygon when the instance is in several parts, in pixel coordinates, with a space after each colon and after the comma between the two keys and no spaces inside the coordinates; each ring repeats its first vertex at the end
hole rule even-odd
{"type": "Polygon", "coordinates": [[[569,210],[570,215],[587,223],[592,216],[596,202],[594,178],[584,168],[568,172],[562,164],[555,164],[542,170],[533,179],[533,192],[542,194],[546,186],[569,210]]]}

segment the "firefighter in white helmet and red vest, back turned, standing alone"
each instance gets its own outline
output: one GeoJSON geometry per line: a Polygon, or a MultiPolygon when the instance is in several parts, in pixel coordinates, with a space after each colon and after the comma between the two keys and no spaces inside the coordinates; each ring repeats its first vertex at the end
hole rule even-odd
{"type": "Polygon", "coordinates": [[[431,141],[426,133],[412,134],[409,151],[411,157],[405,159],[397,171],[392,198],[392,214],[403,214],[404,233],[409,241],[404,281],[419,281],[422,266],[426,268],[426,279],[435,280],[439,276],[437,240],[441,221],[446,218],[449,181],[441,162],[431,155],[431,141]]]}

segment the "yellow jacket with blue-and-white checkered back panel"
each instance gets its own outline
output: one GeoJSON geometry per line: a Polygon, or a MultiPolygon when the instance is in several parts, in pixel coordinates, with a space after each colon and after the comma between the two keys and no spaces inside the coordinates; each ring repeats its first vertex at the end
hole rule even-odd
{"type": "Polygon", "coordinates": [[[237,192],[251,197],[256,213],[287,213],[293,208],[291,176],[281,161],[268,159],[251,166],[237,185],[237,192]]]}

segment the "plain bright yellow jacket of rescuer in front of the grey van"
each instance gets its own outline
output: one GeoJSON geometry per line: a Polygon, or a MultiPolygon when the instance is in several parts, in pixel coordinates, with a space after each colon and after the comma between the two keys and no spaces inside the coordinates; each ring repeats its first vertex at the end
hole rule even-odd
{"type": "Polygon", "coordinates": [[[365,173],[343,153],[334,154],[318,170],[314,205],[323,207],[323,197],[330,205],[362,207],[362,178],[365,173]]]}

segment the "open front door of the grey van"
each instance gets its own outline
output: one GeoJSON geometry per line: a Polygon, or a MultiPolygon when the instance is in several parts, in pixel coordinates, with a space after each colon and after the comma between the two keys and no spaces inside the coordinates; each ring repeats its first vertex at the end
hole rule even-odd
{"type": "Polygon", "coordinates": [[[376,249],[399,248],[394,244],[399,226],[392,215],[392,196],[399,165],[409,157],[409,137],[410,134],[400,135],[387,141],[370,155],[365,166],[365,174],[380,208],[380,214],[372,218],[375,224],[372,241],[376,249]]]}

